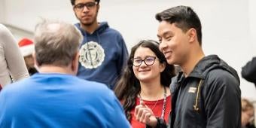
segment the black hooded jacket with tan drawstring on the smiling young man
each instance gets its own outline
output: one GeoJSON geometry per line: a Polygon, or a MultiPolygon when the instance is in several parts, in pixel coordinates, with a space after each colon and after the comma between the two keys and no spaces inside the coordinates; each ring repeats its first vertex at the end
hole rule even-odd
{"type": "MultiPolygon", "coordinates": [[[[241,127],[239,77],[218,56],[204,57],[187,78],[180,72],[172,80],[168,127],[241,127]]],[[[157,127],[167,126],[158,121],[157,127]]]]}

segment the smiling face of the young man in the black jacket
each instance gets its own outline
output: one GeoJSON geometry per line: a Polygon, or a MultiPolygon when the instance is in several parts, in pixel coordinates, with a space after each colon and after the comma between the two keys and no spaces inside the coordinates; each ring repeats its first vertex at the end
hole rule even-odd
{"type": "Polygon", "coordinates": [[[186,61],[190,51],[190,37],[187,32],[183,32],[175,23],[171,24],[164,20],[160,22],[157,32],[159,48],[169,64],[181,66],[186,61]]]}

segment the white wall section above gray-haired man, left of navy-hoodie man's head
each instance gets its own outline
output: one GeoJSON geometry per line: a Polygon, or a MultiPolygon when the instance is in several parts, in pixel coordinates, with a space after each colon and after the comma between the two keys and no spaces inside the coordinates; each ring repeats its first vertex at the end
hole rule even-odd
{"type": "Polygon", "coordinates": [[[33,31],[41,18],[75,20],[69,0],[5,0],[5,23],[33,31]]]}

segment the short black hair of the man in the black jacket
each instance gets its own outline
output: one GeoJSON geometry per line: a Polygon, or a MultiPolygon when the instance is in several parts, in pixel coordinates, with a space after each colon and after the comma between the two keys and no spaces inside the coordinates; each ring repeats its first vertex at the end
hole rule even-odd
{"type": "Polygon", "coordinates": [[[169,23],[175,23],[175,26],[180,28],[183,32],[187,32],[188,29],[194,28],[197,30],[197,40],[200,45],[202,44],[202,26],[199,17],[193,11],[192,8],[187,6],[176,6],[169,8],[156,14],[158,21],[167,21],[169,23]]]}

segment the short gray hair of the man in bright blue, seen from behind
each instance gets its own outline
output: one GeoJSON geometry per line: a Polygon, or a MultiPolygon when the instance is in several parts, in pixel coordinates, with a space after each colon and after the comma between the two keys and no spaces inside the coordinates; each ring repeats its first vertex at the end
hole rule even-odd
{"type": "Polygon", "coordinates": [[[78,53],[82,35],[72,24],[44,20],[35,27],[34,40],[38,66],[69,66],[78,53]]]}

